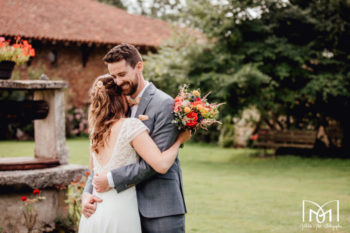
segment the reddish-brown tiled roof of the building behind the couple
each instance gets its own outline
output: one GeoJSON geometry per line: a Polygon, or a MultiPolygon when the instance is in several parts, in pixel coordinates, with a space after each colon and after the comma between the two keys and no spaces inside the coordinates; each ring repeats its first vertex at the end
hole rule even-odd
{"type": "Polygon", "coordinates": [[[165,21],[92,0],[0,0],[0,35],[85,43],[159,46],[165,21]]]}

